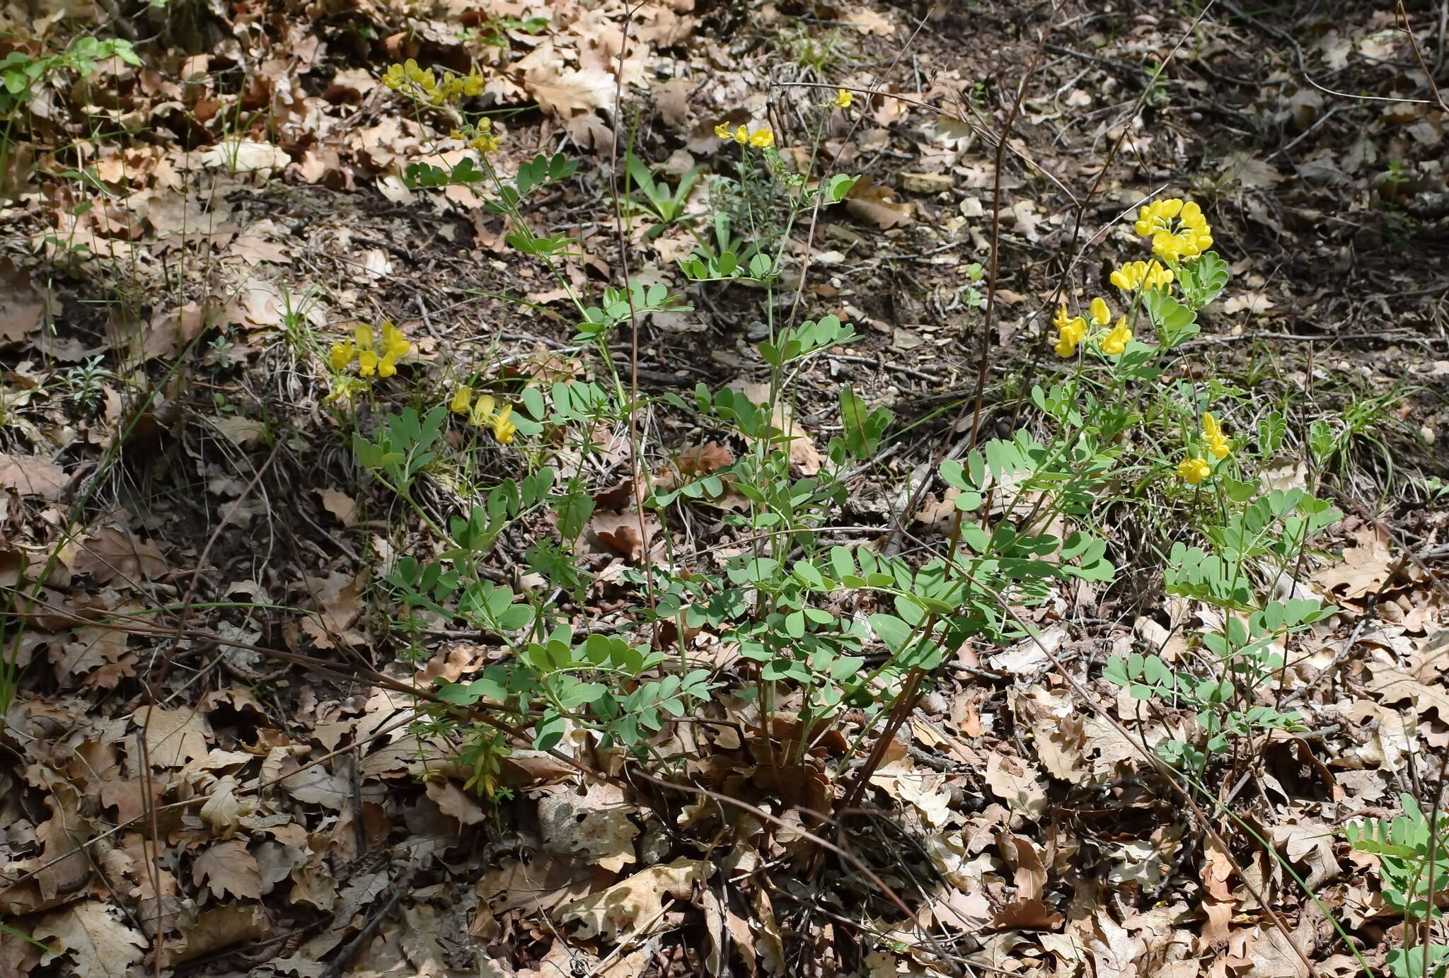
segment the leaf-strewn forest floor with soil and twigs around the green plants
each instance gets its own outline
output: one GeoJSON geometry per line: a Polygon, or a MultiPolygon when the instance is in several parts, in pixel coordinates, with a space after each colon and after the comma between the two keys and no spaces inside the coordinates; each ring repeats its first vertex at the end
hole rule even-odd
{"type": "MultiPolygon", "coordinates": [[[[1379,858],[1345,835],[1404,795],[1437,813],[1449,753],[1449,7],[1408,7],[0,6],[0,77],[45,62],[0,101],[0,975],[1423,974],[1395,958],[1423,940],[1379,858]],[[464,156],[383,84],[407,58],[481,72],[510,180],[538,154],[577,162],[527,201],[536,233],[574,242],[558,278],[471,188],[404,178],[464,156]],[[851,106],[816,112],[838,87],[851,106]],[[498,748],[480,782],[483,755],[426,727],[406,690],[483,675],[501,646],[446,620],[400,636],[383,580],[440,549],[419,513],[442,523],[549,448],[491,445],[413,511],[349,426],[465,378],[606,381],[571,294],[626,280],[688,300],[609,340],[626,384],[767,380],[762,293],[680,268],[726,207],[711,181],[740,148],[716,128],[746,122],[798,170],[861,177],[790,230],[771,296],[859,333],[796,377],[796,475],[842,433],[842,385],[894,416],[848,480],[864,548],[955,539],[940,456],[978,409],[1010,438],[1032,385],[1065,375],[1058,300],[1142,256],[1143,198],[1201,203],[1233,278],[1181,378],[1279,411],[1290,445],[1321,432],[1317,462],[1265,478],[1343,514],[1288,581],[1339,610],[1264,700],[1301,723],[1211,768],[1213,804],[1123,733],[1158,743],[1191,711],[1145,716],[1104,680],[1113,655],[1191,659],[1201,617],[1129,509],[1126,572],[1064,584],[1040,639],[955,649],[852,810],[833,806],[862,720],[817,745],[839,781],[787,785],[765,769],[794,714],[762,723],[733,687],[656,735],[672,766],[571,730],[498,748]],[[620,200],[627,156],[693,183],[672,219],[620,200]],[[383,322],[406,362],[343,419],[327,348],[383,322]]],[[[659,411],[574,459],[580,632],[633,627],[620,595],[678,559],[630,510],[632,472],[746,451],[659,411]]],[[[690,513],[667,522],[691,553],[746,546],[727,500],[690,513]]],[[[490,558],[522,594],[526,551],[510,530],[490,558]]]]}

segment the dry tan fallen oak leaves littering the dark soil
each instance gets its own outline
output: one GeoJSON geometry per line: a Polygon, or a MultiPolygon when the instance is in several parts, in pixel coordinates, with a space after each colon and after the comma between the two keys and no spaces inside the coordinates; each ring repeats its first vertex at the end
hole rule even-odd
{"type": "MultiPolygon", "coordinates": [[[[16,13],[4,10],[6,26],[16,13]]],[[[791,17],[771,4],[756,13],[768,30],[791,17]]],[[[894,54],[913,26],[903,12],[884,6],[819,13],[849,52],[839,68],[845,72],[858,59],[894,54]]],[[[104,16],[101,7],[78,4],[25,26],[43,32],[68,17],[90,23],[104,16]]],[[[962,23],[956,12],[929,16],[940,35],[962,23]]],[[[622,96],[625,112],[653,100],[664,123],[653,138],[684,152],[684,170],[707,159],[716,122],[769,110],[767,81],[777,67],[769,54],[730,48],[727,17],[690,0],[635,7],[614,0],[500,0],[478,9],[442,3],[406,14],[374,4],[345,13],[288,6],[278,20],[245,4],[212,4],[206,19],[209,25],[177,30],[219,29],[214,43],[168,39],[175,46],[162,51],[164,70],[122,65],[106,77],[114,87],[104,93],[104,112],[100,101],[77,103],[128,126],[154,126],[154,143],[88,141],[67,106],[96,93],[42,93],[28,125],[42,139],[85,145],[99,184],[65,177],[51,159],[16,188],[17,204],[3,210],[26,241],[0,265],[9,283],[0,296],[4,398],[16,411],[14,435],[7,430],[0,454],[0,571],[16,587],[33,582],[36,561],[54,555],[58,568],[17,606],[28,627],[14,649],[28,678],[3,737],[10,762],[0,769],[0,911],[7,927],[43,948],[6,930],[0,955],[7,974],[109,978],[185,965],[191,974],[322,975],[326,962],[341,959],[341,949],[359,937],[365,940],[351,959],[352,974],[572,975],[582,966],[619,975],[924,975],[940,974],[940,961],[927,953],[935,940],[948,942],[972,966],[1020,974],[1279,978],[1308,974],[1300,952],[1319,974],[1352,974],[1321,916],[1301,900],[1294,906],[1285,868],[1353,927],[1385,917],[1369,882],[1371,861],[1339,843],[1336,830],[1355,814],[1391,810],[1395,791],[1414,777],[1414,759],[1449,746],[1449,642],[1437,578],[1406,559],[1403,539],[1378,523],[1345,523],[1336,542],[1340,559],[1324,561],[1303,581],[1346,610],[1316,626],[1304,656],[1290,666],[1308,690],[1301,706],[1314,729],[1264,743],[1255,784],[1237,797],[1275,858],[1243,835],[1232,837],[1240,846],[1233,852],[1214,837],[1193,837],[1201,826],[1184,823],[1175,800],[1143,780],[1132,746],[1084,710],[1036,643],[984,665],[964,649],[966,668],[953,674],[940,701],[923,704],[919,722],[888,745],[869,781],[872,820],[849,839],[894,891],[910,894],[911,917],[858,875],[820,874],[807,833],[823,830],[798,810],[771,811],[785,823],[777,824],[703,795],[681,801],[623,778],[581,778],[538,752],[516,752],[500,772],[514,801],[506,810],[484,806],[464,790],[469,772],[459,769],[451,745],[409,729],[406,698],[307,680],[300,671],[264,680],[238,653],[243,648],[164,627],[149,610],[178,601],[191,575],[201,574],[223,597],[255,598],[252,610],[209,619],[216,636],[242,646],[320,652],[336,662],[380,666],[397,682],[422,677],[425,688],[438,675],[474,675],[494,655],[452,636],[436,636],[455,643],[439,645],[420,671],[378,655],[361,556],[385,556],[394,543],[374,526],[375,500],[359,498],[343,482],[303,484],[300,493],[265,503],[248,498],[246,485],[274,438],[268,426],[283,419],[306,433],[319,423],[314,394],[297,380],[296,364],[278,354],[291,325],[300,319],[326,327],[394,312],[429,355],[452,356],[456,349],[439,338],[440,310],[465,298],[459,283],[485,281],[474,265],[503,264],[496,258],[501,233],[469,197],[427,201],[403,184],[406,164],[430,152],[446,158],[458,146],[448,145],[445,130],[432,132],[383,104],[377,62],[356,57],[359,29],[380,39],[378,61],[483,58],[493,104],[538,107],[507,122],[530,148],[567,141],[604,158],[622,122],[616,99],[622,96]],[[545,26],[527,26],[538,19],[545,26]],[[467,48],[461,38],[469,30],[490,41],[467,48]],[[226,122],[259,119],[259,112],[265,123],[248,123],[245,132],[226,122]],[[403,204],[426,213],[419,222],[426,243],[419,227],[390,214],[403,204]],[[126,262],[129,287],[148,296],[164,296],[178,265],[190,268],[181,272],[190,277],[181,284],[183,301],[167,309],[114,303],[104,323],[62,332],[58,323],[72,313],[80,319],[78,306],[74,296],[36,287],[35,255],[58,265],[126,262]],[[206,262],[187,264],[201,255],[206,262]],[[201,345],[213,372],[187,374],[185,384],[196,387],[161,385],[149,398],[136,397],[132,381],[143,377],[146,364],[200,355],[201,345]],[[110,369],[77,387],[72,365],[97,355],[110,369]],[[277,417],[238,413],[246,410],[243,390],[252,385],[256,393],[259,384],[270,385],[277,417]],[[91,404],[81,416],[77,390],[88,391],[84,403],[91,404]],[[185,423],[199,391],[209,391],[203,403],[220,411],[210,426],[220,439],[207,440],[185,423]],[[135,446],[130,487],[167,467],[194,465],[180,478],[190,480],[185,493],[204,497],[204,520],[184,506],[148,506],[116,485],[107,487],[120,500],[114,507],[80,532],[62,530],[68,506],[93,488],[91,464],[123,430],[135,446]],[[312,511],[327,520],[326,532],[313,536],[300,522],[278,527],[278,509],[312,506],[301,496],[316,500],[312,511]],[[227,523],[209,567],[193,571],[216,529],[207,520],[223,511],[227,523]],[[278,542],[288,535],[303,543],[278,542]],[[262,540],[268,558],[278,559],[248,558],[262,540]],[[264,614],[264,607],[290,611],[264,614]],[[116,616],[136,632],[104,624],[116,616]],[[171,671],[171,661],[183,665],[171,671]],[[164,695],[143,695],[142,680],[164,682],[164,695]],[[400,901],[391,904],[398,888],[400,901]],[[1264,893],[1290,917],[1288,935],[1268,921],[1264,893]],[[396,913],[383,913],[390,907],[396,913]],[[701,927],[703,942],[694,939],[701,927]],[[836,945],[848,949],[843,956],[836,945]]],[[[990,38],[978,42],[985,45],[982,57],[994,48],[991,57],[1019,68],[1027,54],[1020,41],[993,33],[988,19],[974,25],[990,38]]],[[[1181,28],[1168,14],[1124,20],[1120,32],[1106,26],[1091,28],[1101,33],[1081,41],[1095,54],[1074,54],[1074,41],[1049,65],[1056,97],[1085,113],[1087,143],[1119,125],[1104,109],[1129,84],[1122,65],[1165,49],[1181,28]]],[[[1213,72],[1250,68],[1233,54],[1240,46],[1233,32],[1245,29],[1213,20],[1197,36],[1195,61],[1219,67],[1174,75],[1184,112],[1211,116],[1213,72]]],[[[1319,42],[1310,57],[1323,67],[1392,71],[1364,61],[1387,61],[1397,51],[1391,17],[1362,14],[1314,29],[1319,42]]],[[[920,57],[929,78],[917,71],[916,88],[904,94],[959,114],[959,93],[982,83],[984,70],[939,43],[924,43],[920,57]]],[[[1275,125],[1291,139],[1301,136],[1293,143],[1301,149],[1288,152],[1287,139],[1272,155],[1246,145],[1204,171],[1224,193],[1245,197],[1242,238],[1265,230],[1282,239],[1301,235],[1307,229],[1300,225],[1317,226],[1327,198],[1359,187],[1355,200],[1394,206],[1350,204],[1359,230],[1335,246],[1369,256],[1368,281],[1355,285],[1359,293],[1385,310],[1421,316],[1419,307],[1400,307],[1401,298],[1385,296],[1420,287],[1410,269],[1372,262],[1382,261],[1385,242],[1404,233],[1406,220],[1392,214],[1419,222],[1410,233],[1443,226],[1445,174],[1433,154],[1442,145],[1442,113],[1366,106],[1355,112],[1368,113],[1364,125],[1382,136],[1336,141],[1336,125],[1346,116],[1326,117],[1321,96],[1287,74],[1265,81],[1288,83],[1275,125]],[[1400,161],[1394,180],[1375,177],[1379,159],[1400,161]],[[1394,288],[1374,277],[1392,280],[1394,288]]],[[[972,107],[1001,122],[997,109],[972,107]]],[[[1000,214],[1004,261],[1040,254],[1068,229],[1062,200],[1039,171],[1075,180],[1103,165],[1100,151],[1087,143],[1068,152],[1046,138],[1059,112],[1052,99],[1037,101],[1033,94],[1026,110],[1020,158],[1033,165],[1000,174],[1007,190],[1000,214]]],[[[1185,149],[1182,141],[1198,138],[1184,135],[1193,125],[1203,123],[1190,117],[1179,128],[1139,126],[1135,162],[1111,171],[1108,196],[1123,204],[1136,200],[1151,183],[1153,161],[1171,167],[1185,149]]],[[[964,256],[984,258],[982,204],[990,207],[995,177],[990,148],[977,145],[971,125],[885,97],[872,99],[865,130],[848,135],[827,133],[840,165],[882,152],[910,162],[904,171],[877,167],[852,188],[849,220],[826,222],[832,246],[852,262],[865,248],[885,255],[894,249],[901,255],[893,259],[897,265],[943,246],[951,261],[924,265],[924,277],[910,288],[890,287],[893,275],[904,278],[880,262],[867,271],[865,287],[826,277],[806,288],[811,297],[858,303],[859,319],[891,330],[919,327],[924,340],[913,346],[919,354],[910,368],[936,378],[933,388],[961,385],[974,371],[961,348],[977,320],[959,290],[958,267],[964,256]]],[[[9,181],[12,172],[3,177],[9,181]]],[[[569,261],[575,283],[607,274],[619,261],[607,233],[584,230],[581,239],[588,258],[569,261]]],[[[668,274],[668,239],[658,242],[659,271],[668,274]]],[[[522,271],[506,274],[529,293],[522,271]]],[[[1235,297],[1236,304],[1223,303],[1224,338],[1297,336],[1310,320],[1339,322],[1335,313],[1345,300],[1337,293],[1348,290],[1310,283],[1320,291],[1308,303],[1294,301],[1291,278],[1264,278],[1235,297]]],[[[1020,288],[1046,298],[1042,281],[1020,288]]],[[[1000,332],[1027,335],[1032,301],[1010,298],[1001,293],[1000,332]]],[[[471,309],[500,333],[535,329],[517,325],[503,304],[471,309]]],[[[687,332],[667,333],[668,342],[646,349],[646,369],[674,375],[668,371],[698,361],[717,378],[738,367],[732,345],[690,340],[687,332]]],[[[1339,359],[1327,367],[1290,364],[1287,381],[1321,380],[1323,372],[1391,375],[1394,355],[1368,351],[1358,361],[1335,354],[1339,359]]],[[[525,351],[519,364],[543,374],[574,371],[554,356],[543,345],[525,351]]],[[[1414,369],[1427,377],[1442,362],[1414,369]]],[[[904,383],[911,375],[893,372],[890,364],[880,371],[855,367],[842,361],[829,369],[871,383],[881,403],[898,406],[922,393],[904,383]]],[[[740,384],[759,398],[758,385],[740,384]]],[[[924,393],[929,400],[938,391],[924,393]]],[[[827,438],[814,407],[775,419],[801,475],[819,469],[817,445],[827,438]]],[[[1449,430],[1442,411],[1421,401],[1406,407],[1430,442],[1449,430]]],[[[709,474],[732,458],[729,446],[714,442],[681,445],[652,472],[656,487],[709,474]]],[[[625,455],[614,462],[623,465],[625,455]]],[[[601,493],[617,485],[625,485],[622,494],[598,500],[587,538],[593,549],[580,559],[610,562],[620,572],[667,561],[655,542],[655,517],[638,510],[632,478],[601,493]]],[[[869,511],[868,504],[862,498],[861,511],[869,511]]],[[[945,517],[923,522],[949,532],[945,517]]],[[[1420,551],[1435,552],[1443,532],[1437,514],[1407,516],[1403,524],[1423,542],[1420,551]]],[[[1132,648],[1153,629],[1164,630],[1158,617],[1146,616],[1107,622],[1095,632],[1068,616],[1040,624],[1052,629],[1045,645],[1055,653],[1088,659],[1101,645],[1132,648]]],[[[1152,642],[1172,648],[1171,633],[1152,642]]],[[[1187,722],[1143,720],[1136,704],[1106,684],[1093,693],[1110,716],[1137,724],[1133,730],[1149,745],[1187,722]]],[[[806,807],[829,807],[823,801],[838,785],[823,774],[824,759],[843,748],[816,745],[794,768],[771,772],[767,758],[778,745],[798,745],[798,729],[788,719],[762,722],[748,704],[716,706],[722,726],[671,730],[656,748],[688,758],[703,784],[746,804],[793,795],[806,807]]],[[[597,745],[564,743],[565,758],[620,774],[620,759],[597,745]]]]}

